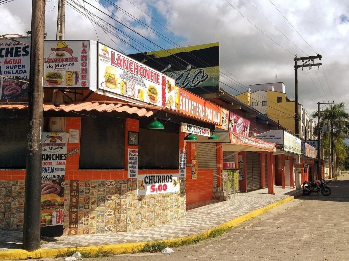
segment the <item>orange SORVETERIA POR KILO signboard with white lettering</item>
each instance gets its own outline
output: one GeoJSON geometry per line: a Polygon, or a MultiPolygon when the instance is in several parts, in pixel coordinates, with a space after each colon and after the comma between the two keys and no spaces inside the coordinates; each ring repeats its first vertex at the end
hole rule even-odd
{"type": "Polygon", "coordinates": [[[222,108],[176,86],[176,110],[222,126],[222,108]]]}

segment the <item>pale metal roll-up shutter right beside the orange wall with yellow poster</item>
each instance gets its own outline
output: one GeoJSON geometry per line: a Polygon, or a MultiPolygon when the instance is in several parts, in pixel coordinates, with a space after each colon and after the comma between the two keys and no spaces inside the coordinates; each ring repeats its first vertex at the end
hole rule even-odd
{"type": "MultiPolygon", "coordinates": [[[[198,155],[198,168],[211,168],[213,174],[217,174],[217,151],[216,143],[196,143],[196,154],[198,155]],[[209,152],[207,152],[209,151],[209,152]],[[200,154],[205,153],[200,156],[200,154]]],[[[217,176],[213,175],[213,187],[217,187],[217,176]]]]}

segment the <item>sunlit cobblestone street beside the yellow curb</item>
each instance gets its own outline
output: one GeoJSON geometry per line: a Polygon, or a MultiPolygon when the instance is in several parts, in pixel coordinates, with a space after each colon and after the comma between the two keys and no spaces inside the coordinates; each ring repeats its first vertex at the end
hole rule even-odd
{"type": "Polygon", "coordinates": [[[221,237],[175,248],[169,255],[130,254],[107,259],[348,260],[349,174],[329,186],[332,189],[329,197],[315,193],[291,200],[221,237]]]}

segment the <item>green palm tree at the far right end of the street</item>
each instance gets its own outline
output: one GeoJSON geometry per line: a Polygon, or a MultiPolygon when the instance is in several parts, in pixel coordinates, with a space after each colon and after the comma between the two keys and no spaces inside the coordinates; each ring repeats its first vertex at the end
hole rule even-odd
{"type": "MultiPolygon", "coordinates": [[[[316,119],[318,112],[314,111],[311,117],[316,119]]],[[[333,138],[333,158],[335,158],[335,173],[338,173],[340,165],[346,158],[346,147],[343,140],[349,136],[349,113],[346,112],[346,104],[341,102],[330,105],[326,110],[320,113],[320,124],[315,128],[314,135],[317,135],[318,128],[324,125],[331,126],[331,137],[333,138]]],[[[320,129],[321,130],[321,129],[320,129]]],[[[324,154],[330,156],[329,151],[329,133],[322,132],[322,140],[324,144],[324,154]]]]}

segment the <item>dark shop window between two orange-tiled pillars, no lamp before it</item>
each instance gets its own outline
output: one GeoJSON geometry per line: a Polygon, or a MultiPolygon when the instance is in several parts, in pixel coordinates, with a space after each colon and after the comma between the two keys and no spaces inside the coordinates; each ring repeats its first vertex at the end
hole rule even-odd
{"type": "Polygon", "coordinates": [[[124,169],[125,128],[119,118],[81,118],[82,169],[124,169]]]}

